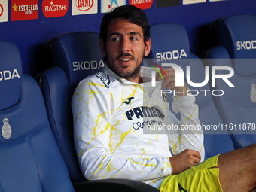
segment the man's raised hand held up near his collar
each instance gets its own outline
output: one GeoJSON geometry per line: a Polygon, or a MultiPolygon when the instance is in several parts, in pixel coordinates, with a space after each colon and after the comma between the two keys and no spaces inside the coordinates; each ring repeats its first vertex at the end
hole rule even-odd
{"type": "MultiPolygon", "coordinates": [[[[165,68],[164,71],[166,72],[167,79],[165,78],[165,75],[162,75],[164,77],[163,81],[163,88],[167,88],[169,90],[175,90],[178,96],[186,96],[187,95],[187,84],[184,82],[184,87],[176,87],[175,86],[175,71],[173,68],[165,68]],[[180,93],[181,92],[181,93],[180,93]],[[184,93],[184,94],[183,94],[184,93]]],[[[160,81],[162,78],[160,74],[157,74],[156,80],[160,81]]]]}

